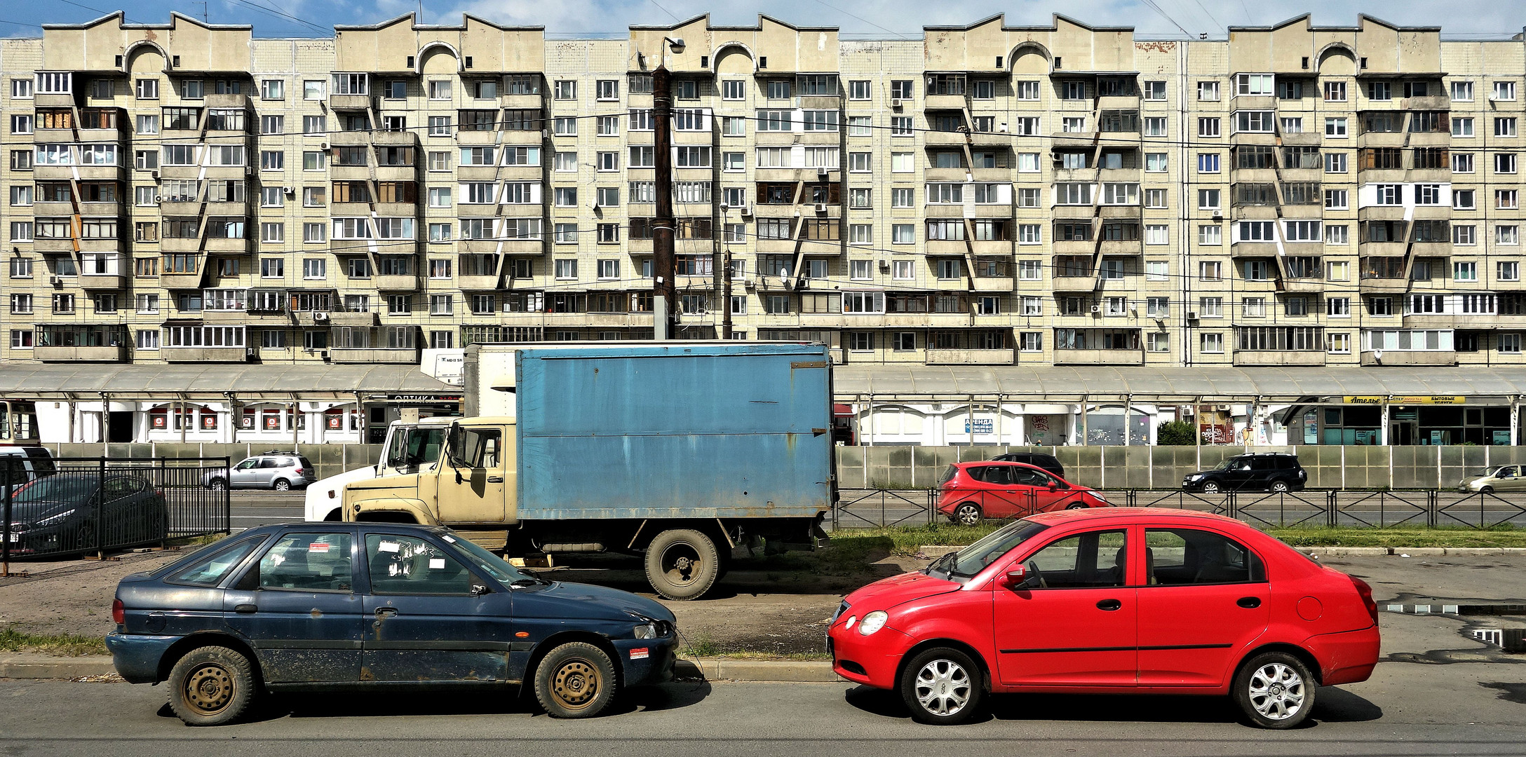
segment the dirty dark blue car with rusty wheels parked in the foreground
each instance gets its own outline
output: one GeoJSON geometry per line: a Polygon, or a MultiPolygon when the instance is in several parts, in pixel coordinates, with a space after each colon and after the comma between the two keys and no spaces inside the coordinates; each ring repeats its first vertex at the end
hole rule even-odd
{"type": "Polygon", "coordinates": [[[107,635],[118,673],[169,682],[191,725],[240,717],[264,690],[530,684],[546,713],[591,717],[620,687],[673,673],[667,607],[546,581],[446,530],[253,528],[122,578],[107,635]]]}

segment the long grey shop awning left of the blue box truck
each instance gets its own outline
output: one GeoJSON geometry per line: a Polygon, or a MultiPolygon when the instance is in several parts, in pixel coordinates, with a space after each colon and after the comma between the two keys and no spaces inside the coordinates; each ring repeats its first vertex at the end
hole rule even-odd
{"type": "Polygon", "coordinates": [[[27,365],[0,368],[6,400],[366,400],[459,397],[412,365],[27,365]]]}

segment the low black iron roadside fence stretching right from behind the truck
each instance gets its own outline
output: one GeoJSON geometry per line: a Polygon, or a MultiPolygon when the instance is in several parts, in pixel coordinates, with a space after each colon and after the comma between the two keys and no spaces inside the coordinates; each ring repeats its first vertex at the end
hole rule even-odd
{"type": "MultiPolygon", "coordinates": [[[[1216,513],[1259,528],[1495,528],[1526,527],[1526,493],[1456,490],[1393,491],[1222,491],[1123,488],[1100,493],[1112,505],[1163,507],[1216,513]]],[[[978,522],[1024,517],[1042,507],[1036,491],[1018,490],[842,490],[832,511],[835,528],[920,525],[937,520],[978,522]]]]}

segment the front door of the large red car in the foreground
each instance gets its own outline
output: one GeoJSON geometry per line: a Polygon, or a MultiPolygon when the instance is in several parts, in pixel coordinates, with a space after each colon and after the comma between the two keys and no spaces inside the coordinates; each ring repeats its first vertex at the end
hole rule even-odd
{"type": "Polygon", "coordinates": [[[1137,607],[1126,530],[1061,537],[1016,565],[1027,568],[1025,583],[992,591],[1001,684],[1132,687],[1137,607]]]}

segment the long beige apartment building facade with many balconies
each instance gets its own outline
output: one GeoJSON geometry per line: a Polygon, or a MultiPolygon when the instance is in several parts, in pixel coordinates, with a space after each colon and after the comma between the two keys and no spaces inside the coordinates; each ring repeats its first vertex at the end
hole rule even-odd
{"type": "Polygon", "coordinates": [[[0,359],[650,337],[659,64],[681,337],[729,311],[845,363],[1526,365],[1520,37],[1059,15],[3,40],[0,359]]]}

